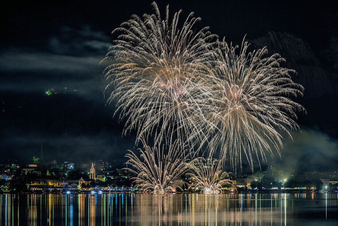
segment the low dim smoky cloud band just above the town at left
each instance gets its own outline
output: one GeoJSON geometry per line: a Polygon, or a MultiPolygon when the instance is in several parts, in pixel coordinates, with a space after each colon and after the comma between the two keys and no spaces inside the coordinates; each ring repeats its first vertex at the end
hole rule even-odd
{"type": "MultiPolygon", "coordinates": [[[[13,134],[11,134],[13,135],[13,134]]],[[[8,136],[2,143],[7,150],[2,158],[20,159],[29,162],[33,156],[40,156],[43,144],[44,160],[92,162],[97,160],[124,160],[127,149],[134,148],[135,138],[124,137],[113,131],[72,135],[46,136],[41,133],[27,133],[8,136]]]]}

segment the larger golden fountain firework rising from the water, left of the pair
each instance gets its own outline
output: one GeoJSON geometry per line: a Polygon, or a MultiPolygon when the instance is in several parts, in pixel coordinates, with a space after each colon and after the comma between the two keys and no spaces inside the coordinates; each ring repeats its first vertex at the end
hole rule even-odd
{"type": "Polygon", "coordinates": [[[131,180],[134,180],[136,187],[142,191],[153,190],[156,193],[171,192],[177,187],[181,188],[183,182],[180,181],[180,176],[189,169],[190,160],[188,155],[180,150],[177,142],[174,141],[165,154],[164,148],[160,146],[150,148],[143,138],[141,141],[144,150],[139,148],[140,158],[130,150],[125,156],[128,161],[125,163],[127,168],[124,169],[130,170],[135,175],[131,180]]]}

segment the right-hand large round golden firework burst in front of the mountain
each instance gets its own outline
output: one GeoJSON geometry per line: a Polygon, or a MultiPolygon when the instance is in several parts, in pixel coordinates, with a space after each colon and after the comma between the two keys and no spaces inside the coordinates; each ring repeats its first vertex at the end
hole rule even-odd
{"type": "Polygon", "coordinates": [[[227,153],[236,173],[242,167],[244,155],[253,170],[252,158],[266,160],[265,151],[273,156],[272,147],[280,155],[283,147],[281,132],[298,129],[296,113],[305,109],[290,97],[303,96],[303,87],[294,83],[289,73],[280,67],[285,60],[279,54],[264,57],[266,47],[247,53],[249,44],[228,46],[224,41],[215,49],[217,75],[210,98],[209,120],[216,132],[210,142],[211,154],[221,146],[221,156],[227,153]],[[281,132],[279,132],[281,131],[281,132]]]}

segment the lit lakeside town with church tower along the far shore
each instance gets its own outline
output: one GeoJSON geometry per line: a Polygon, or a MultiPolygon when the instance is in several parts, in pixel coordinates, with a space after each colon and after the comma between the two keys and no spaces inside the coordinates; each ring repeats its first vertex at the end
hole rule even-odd
{"type": "MultiPolygon", "coordinates": [[[[33,157],[29,164],[21,165],[18,160],[0,162],[0,193],[140,192],[131,178],[122,161],[44,161],[42,149],[40,157],[33,157]]],[[[195,192],[193,179],[181,179],[186,183],[176,192],[195,192]]],[[[254,174],[230,174],[229,179],[236,188],[231,188],[231,192],[338,192],[337,171],[290,174],[271,166],[254,174]]]]}

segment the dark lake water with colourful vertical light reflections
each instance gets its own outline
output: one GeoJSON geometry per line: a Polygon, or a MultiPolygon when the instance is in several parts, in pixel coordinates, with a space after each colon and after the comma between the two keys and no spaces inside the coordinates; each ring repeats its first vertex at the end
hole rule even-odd
{"type": "Polygon", "coordinates": [[[0,225],[338,225],[337,193],[0,196],[0,225]]]}

